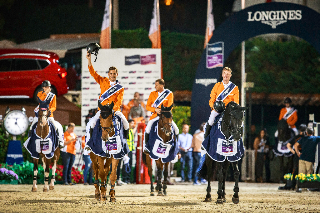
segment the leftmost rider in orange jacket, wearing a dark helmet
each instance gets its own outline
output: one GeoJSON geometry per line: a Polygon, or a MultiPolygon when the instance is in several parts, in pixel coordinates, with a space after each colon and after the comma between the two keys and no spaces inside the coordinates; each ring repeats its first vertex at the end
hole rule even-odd
{"type": "MultiPolygon", "coordinates": [[[[53,112],[57,109],[57,98],[56,95],[54,95],[54,93],[51,92],[51,83],[48,80],[44,80],[41,84],[41,87],[43,89],[43,91],[38,92],[37,96],[40,98],[40,100],[44,101],[44,100],[49,100],[50,99],[50,103],[49,103],[49,110],[51,111],[51,115],[49,116],[48,120],[53,124],[53,126],[55,127],[55,129],[57,130],[57,127],[55,125],[54,122],[54,118],[53,118],[53,112]]],[[[36,107],[35,112],[37,113],[39,111],[39,105],[36,107]]],[[[38,121],[37,117],[35,117],[33,119],[33,122],[30,126],[30,131],[32,130],[33,125],[38,121]]],[[[30,133],[29,131],[29,133],[30,133]]],[[[58,131],[57,131],[58,133],[58,131]]]]}

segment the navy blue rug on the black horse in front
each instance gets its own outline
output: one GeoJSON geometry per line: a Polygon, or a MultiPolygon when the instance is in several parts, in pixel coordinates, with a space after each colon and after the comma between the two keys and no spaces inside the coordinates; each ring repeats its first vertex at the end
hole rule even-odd
{"type": "Polygon", "coordinates": [[[223,162],[238,161],[244,154],[244,146],[242,139],[240,141],[234,141],[232,136],[226,138],[221,131],[221,122],[223,116],[217,116],[215,120],[219,119],[218,122],[212,126],[210,134],[202,142],[201,155],[207,154],[214,161],[223,162]]]}

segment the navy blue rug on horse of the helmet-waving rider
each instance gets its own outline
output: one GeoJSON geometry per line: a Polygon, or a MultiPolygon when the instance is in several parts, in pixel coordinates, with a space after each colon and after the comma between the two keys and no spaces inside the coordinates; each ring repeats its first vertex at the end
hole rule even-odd
{"type": "Polygon", "coordinates": [[[114,114],[112,121],[116,132],[114,136],[109,137],[107,142],[102,141],[102,130],[99,128],[100,119],[98,119],[93,128],[92,137],[87,141],[86,146],[98,156],[111,157],[112,155],[115,159],[121,159],[129,153],[129,146],[124,136],[121,118],[114,114]]]}

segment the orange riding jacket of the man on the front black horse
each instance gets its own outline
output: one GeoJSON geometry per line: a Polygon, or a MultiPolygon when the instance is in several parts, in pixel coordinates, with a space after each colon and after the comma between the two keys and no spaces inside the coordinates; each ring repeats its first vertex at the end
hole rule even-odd
{"type": "MultiPolygon", "coordinates": [[[[214,87],[211,90],[211,94],[210,94],[210,101],[209,101],[209,106],[211,107],[212,110],[213,109],[213,104],[214,102],[216,102],[217,96],[224,90],[224,86],[222,81],[218,82],[214,85],[214,87]]],[[[226,97],[226,99],[223,100],[223,102],[227,104],[230,101],[234,101],[237,104],[239,104],[239,88],[236,86],[232,92],[226,97]]]]}

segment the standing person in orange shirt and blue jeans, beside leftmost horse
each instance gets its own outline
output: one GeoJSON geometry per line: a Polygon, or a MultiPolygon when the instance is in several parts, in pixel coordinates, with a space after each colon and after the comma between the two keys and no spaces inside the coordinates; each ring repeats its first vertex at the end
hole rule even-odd
{"type": "Polygon", "coordinates": [[[64,185],[76,185],[71,182],[71,169],[76,159],[76,134],[74,123],[69,123],[67,131],[64,133],[64,145],[67,146],[65,151],[61,152],[63,162],[63,182],[64,185]]]}

